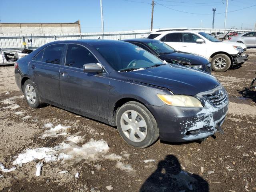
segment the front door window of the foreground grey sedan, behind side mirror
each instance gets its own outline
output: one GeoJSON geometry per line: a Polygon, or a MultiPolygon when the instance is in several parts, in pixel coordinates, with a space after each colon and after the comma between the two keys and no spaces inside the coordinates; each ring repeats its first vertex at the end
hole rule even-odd
{"type": "Polygon", "coordinates": [[[88,49],[84,48],[83,46],[69,44],[65,65],[83,68],[83,65],[87,63],[98,63],[98,60],[88,49]]]}

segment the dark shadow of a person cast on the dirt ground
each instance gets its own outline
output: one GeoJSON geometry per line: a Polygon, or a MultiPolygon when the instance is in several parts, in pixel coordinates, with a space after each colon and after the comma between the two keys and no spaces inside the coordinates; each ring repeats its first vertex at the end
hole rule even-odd
{"type": "Polygon", "coordinates": [[[202,177],[181,170],[178,159],[168,155],[158,163],[140,192],[209,192],[209,184],[202,177]]]}

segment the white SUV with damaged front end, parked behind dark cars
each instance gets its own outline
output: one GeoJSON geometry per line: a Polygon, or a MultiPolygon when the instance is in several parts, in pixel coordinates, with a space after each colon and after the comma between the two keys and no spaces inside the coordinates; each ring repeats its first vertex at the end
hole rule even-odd
{"type": "Polygon", "coordinates": [[[190,52],[208,58],[214,71],[226,71],[230,66],[243,63],[246,45],[236,42],[219,41],[205,32],[191,30],[159,31],[148,38],[160,40],[176,50],[190,52]]]}

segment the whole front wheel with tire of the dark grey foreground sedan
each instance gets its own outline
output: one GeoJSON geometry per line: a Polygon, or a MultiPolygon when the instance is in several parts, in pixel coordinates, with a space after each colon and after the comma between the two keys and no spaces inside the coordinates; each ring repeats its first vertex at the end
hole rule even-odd
{"type": "Polygon", "coordinates": [[[127,102],[118,109],[116,126],[120,136],[137,148],[148,147],[159,137],[154,116],[138,102],[127,102]]]}

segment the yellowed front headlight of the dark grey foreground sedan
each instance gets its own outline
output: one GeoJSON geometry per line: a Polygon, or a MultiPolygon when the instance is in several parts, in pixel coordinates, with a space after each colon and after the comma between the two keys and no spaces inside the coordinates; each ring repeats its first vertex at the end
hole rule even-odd
{"type": "Polygon", "coordinates": [[[157,94],[157,96],[167,105],[179,107],[203,107],[201,102],[192,96],[162,94],[157,94]]]}

